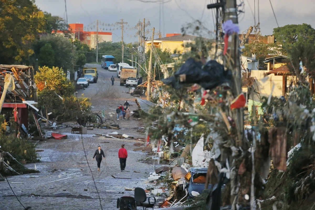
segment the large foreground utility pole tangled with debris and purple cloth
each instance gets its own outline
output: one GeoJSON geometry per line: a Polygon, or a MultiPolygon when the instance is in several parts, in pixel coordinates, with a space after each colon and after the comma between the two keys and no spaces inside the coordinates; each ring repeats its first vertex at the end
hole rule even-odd
{"type": "MultiPolygon", "coordinates": [[[[226,7],[224,13],[224,21],[232,20],[233,24],[238,24],[238,15],[237,15],[237,3],[236,0],[226,0],[226,7]]],[[[226,56],[226,63],[227,67],[232,71],[232,81],[231,81],[231,91],[234,98],[236,98],[239,94],[242,94],[242,84],[241,84],[241,66],[240,66],[240,54],[239,54],[239,38],[238,34],[234,33],[231,36],[231,41],[228,43],[228,50],[227,54],[230,56],[230,60],[227,60],[226,56]]],[[[244,198],[245,192],[247,190],[251,190],[250,195],[250,203],[251,209],[255,209],[255,198],[254,198],[254,183],[252,182],[251,186],[243,183],[250,183],[251,179],[253,178],[249,173],[247,176],[243,176],[240,180],[238,175],[238,169],[240,167],[239,161],[234,161],[237,159],[243,159],[244,153],[242,151],[248,151],[248,146],[246,144],[244,138],[244,110],[243,108],[231,110],[232,119],[234,119],[235,126],[236,126],[236,133],[234,133],[235,140],[233,146],[235,148],[242,148],[238,149],[235,152],[234,156],[230,157],[230,184],[231,184],[231,199],[230,202],[232,204],[232,210],[237,209],[237,206],[246,206],[248,200],[244,198]],[[233,161],[232,161],[233,160],[233,161]],[[246,181],[244,181],[244,179],[246,181]]],[[[246,154],[246,153],[245,153],[246,154]]],[[[254,167],[254,166],[252,166],[254,167]]],[[[255,176],[255,175],[254,175],[255,176]]]]}

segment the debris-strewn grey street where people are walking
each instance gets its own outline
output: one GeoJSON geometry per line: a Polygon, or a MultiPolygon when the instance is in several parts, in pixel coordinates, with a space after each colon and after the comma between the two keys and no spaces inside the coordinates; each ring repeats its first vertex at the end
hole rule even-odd
{"type": "MultiPolygon", "coordinates": [[[[85,90],[78,91],[92,99],[94,111],[105,110],[106,113],[115,113],[117,105],[123,104],[125,100],[130,103],[131,110],[136,110],[135,98],[125,92],[128,88],[119,86],[119,79],[116,72],[109,72],[100,65],[90,64],[87,67],[98,67],[99,79],[95,84],[90,84],[85,90]],[[114,86],[110,78],[115,77],[114,86]],[[123,92],[124,91],[124,92],[123,92]]],[[[114,115],[114,121],[116,116],[114,115]]],[[[140,126],[141,121],[130,118],[130,121],[119,120],[120,130],[93,129],[88,130],[88,134],[71,134],[71,128],[54,130],[56,132],[68,134],[68,139],[40,141],[37,144],[41,162],[36,163],[40,173],[17,175],[7,177],[14,193],[24,205],[32,209],[117,209],[116,201],[121,196],[133,196],[133,191],[125,191],[123,187],[146,188],[149,184],[145,181],[154,167],[138,160],[145,159],[145,153],[134,152],[135,140],[108,139],[93,137],[96,133],[110,133],[117,131],[135,137],[144,137],[143,133],[137,133],[134,129],[140,126]],[[109,142],[109,143],[102,143],[109,142]],[[121,172],[119,159],[117,156],[121,144],[125,144],[128,151],[126,171],[121,172]],[[96,161],[92,160],[93,154],[100,145],[104,150],[106,158],[102,160],[100,172],[97,171],[96,161]],[[87,156],[86,161],[84,150],[87,156]],[[90,169],[92,171],[90,171],[90,169]],[[140,172],[135,173],[134,171],[140,172]],[[119,178],[131,179],[114,179],[119,178]],[[95,188],[93,178],[99,193],[95,188]],[[118,192],[123,192],[120,194],[118,192]],[[100,200],[101,206],[100,206],[100,200]]],[[[71,127],[74,123],[68,123],[71,127]]],[[[29,168],[34,168],[34,163],[26,164],[29,168]]],[[[23,209],[13,195],[7,181],[0,182],[0,209],[23,209]]]]}

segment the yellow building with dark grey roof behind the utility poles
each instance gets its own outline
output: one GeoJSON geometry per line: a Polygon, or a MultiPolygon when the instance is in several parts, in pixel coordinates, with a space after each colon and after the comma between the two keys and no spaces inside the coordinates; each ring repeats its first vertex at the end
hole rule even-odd
{"type": "MultiPolygon", "coordinates": [[[[166,37],[153,40],[155,48],[162,51],[167,50],[172,54],[182,54],[190,51],[188,45],[195,43],[197,36],[186,34],[166,34],[166,37]]],[[[151,48],[151,40],[145,42],[145,52],[147,53],[151,48]]]]}

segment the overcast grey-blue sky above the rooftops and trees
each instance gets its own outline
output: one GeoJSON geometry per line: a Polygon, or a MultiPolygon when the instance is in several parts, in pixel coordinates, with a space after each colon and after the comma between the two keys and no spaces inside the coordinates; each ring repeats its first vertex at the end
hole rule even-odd
{"type": "MultiPolygon", "coordinates": [[[[167,3],[146,3],[157,0],[66,0],[68,23],[83,23],[86,26],[96,26],[93,22],[112,24],[124,19],[130,27],[135,26],[139,20],[150,20],[151,26],[162,35],[167,33],[181,33],[181,28],[194,20],[201,20],[203,26],[214,31],[212,11],[206,9],[206,5],[213,0],[164,0],[167,3]]],[[[160,0],[163,1],[163,0],[160,0]]],[[[258,22],[258,0],[237,0],[243,6],[239,7],[244,13],[239,14],[240,30],[245,31],[249,26],[254,26],[255,19],[258,22]],[[254,9],[254,3],[255,9],[254,9]]],[[[313,0],[271,0],[279,26],[288,24],[310,24],[315,27],[315,14],[313,12],[315,1],[313,0]]],[[[53,15],[59,15],[66,19],[65,0],[35,0],[36,5],[43,11],[53,15]]],[[[259,3],[259,20],[262,35],[272,34],[273,28],[277,27],[268,0],[259,3]]],[[[100,26],[106,31],[111,27],[100,26]]],[[[92,31],[96,31],[92,29],[92,31]]],[[[121,39],[121,30],[113,32],[112,41],[121,39]]],[[[125,30],[124,42],[138,41],[136,31],[125,30]]],[[[192,34],[192,32],[188,32],[192,34]]],[[[146,35],[151,37],[152,35],[146,35]]],[[[204,35],[205,36],[205,35],[204,35]]],[[[164,36],[162,36],[164,37],[164,36]]],[[[209,37],[213,37],[209,35],[209,37]]]]}

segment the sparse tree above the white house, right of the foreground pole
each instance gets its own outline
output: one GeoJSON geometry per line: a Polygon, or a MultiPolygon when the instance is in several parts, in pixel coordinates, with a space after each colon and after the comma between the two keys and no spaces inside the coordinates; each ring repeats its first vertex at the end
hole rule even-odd
{"type": "Polygon", "coordinates": [[[276,55],[285,55],[286,51],[278,43],[265,44],[263,42],[252,42],[245,45],[243,49],[243,56],[252,57],[252,54],[256,54],[256,60],[259,60],[259,66],[266,68],[267,65],[264,63],[267,57],[276,55]]]}

